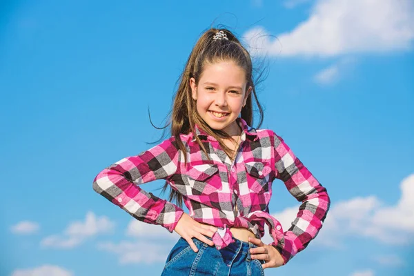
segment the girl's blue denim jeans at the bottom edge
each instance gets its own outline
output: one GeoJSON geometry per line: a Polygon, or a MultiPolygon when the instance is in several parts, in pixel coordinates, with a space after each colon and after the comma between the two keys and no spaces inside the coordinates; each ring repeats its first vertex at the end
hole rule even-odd
{"type": "Polygon", "coordinates": [[[215,246],[209,246],[193,237],[193,242],[198,248],[198,252],[195,253],[188,242],[181,237],[168,255],[161,276],[264,276],[262,268],[264,261],[250,258],[249,249],[257,246],[239,239],[235,241],[217,250],[215,246]]]}

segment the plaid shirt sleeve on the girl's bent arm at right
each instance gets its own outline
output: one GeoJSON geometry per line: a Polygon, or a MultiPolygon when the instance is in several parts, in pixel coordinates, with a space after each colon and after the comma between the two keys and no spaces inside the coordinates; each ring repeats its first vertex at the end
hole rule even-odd
{"type": "Polygon", "coordinates": [[[282,137],[274,134],[276,178],[284,181],[289,193],[302,201],[292,226],[284,233],[284,239],[274,246],[286,264],[296,253],[304,250],[322,228],[331,201],[324,188],[292,150],[282,137]]]}

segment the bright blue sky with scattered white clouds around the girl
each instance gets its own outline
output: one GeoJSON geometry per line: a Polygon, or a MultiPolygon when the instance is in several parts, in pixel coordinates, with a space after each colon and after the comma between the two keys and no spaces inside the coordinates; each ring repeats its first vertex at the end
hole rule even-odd
{"type": "MultiPolygon", "coordinates": [[[[332,200],[318,237],[266,275],[412,275],[413,11],[409,0],[2,1],[0,274],[161,273],[177,234],[132,221],[92,180],[159,138],[147,108],[161,124],[199,34],[221,23],[268,66],[262,128],[332,200]]],[[[166,197],[162,185],[142,187],[166,197]]],[[[284,228],[298,206],[275,181],[284,228]]]]}

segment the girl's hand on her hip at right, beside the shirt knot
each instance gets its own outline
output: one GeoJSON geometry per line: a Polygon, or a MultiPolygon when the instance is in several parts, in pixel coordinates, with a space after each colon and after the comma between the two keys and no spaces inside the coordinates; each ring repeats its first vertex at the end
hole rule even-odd
{"type": "Polygon", "coordinates": [[[249,237],[248,241],[257,246],[257,248],[250,249],[252,259],[264,259],[264,262],[266,262],[265,264],[262,264],[263,269],[283,265],[284,259],[276,248],[264,244],[262,240],[253,237],[249,237]]]}

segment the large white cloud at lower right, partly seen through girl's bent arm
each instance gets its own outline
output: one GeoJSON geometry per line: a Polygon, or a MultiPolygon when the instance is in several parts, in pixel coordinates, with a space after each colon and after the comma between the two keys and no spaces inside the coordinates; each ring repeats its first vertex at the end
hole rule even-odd
{"type": "MultiPolygon", "coordinates": [[[[414,174],[402,180],[401,197],[395,206],[385,206],[380,199],[371,195],[339,201],[331,206],[324,227],[312,244],[333,248],[343,247],[342,239],[347,236],[362,236],[377,239],[384,244],[402,245],[414,242],[414,174]]],[[[273,214],[286,231],[297,215],[298,207],[286,208],[273,214]]],[[[273,242],[266,231],[262,239],[266,244],[273,242]]],[[[385,263],[386,259],[382,259],[385,263]]],[[[388,262],[397,264],[397,259],[388,262]]]]}

